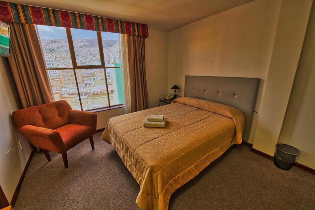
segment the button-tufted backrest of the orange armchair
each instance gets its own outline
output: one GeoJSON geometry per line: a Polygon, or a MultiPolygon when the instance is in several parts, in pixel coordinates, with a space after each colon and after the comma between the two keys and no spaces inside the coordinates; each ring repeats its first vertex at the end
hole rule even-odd
{"type": "Polygon", "coordinates": [[[15,128],[25,125],[56,129],[69,123],[71,106],[66,100],[16,110],[12,113],[15,128]]]}

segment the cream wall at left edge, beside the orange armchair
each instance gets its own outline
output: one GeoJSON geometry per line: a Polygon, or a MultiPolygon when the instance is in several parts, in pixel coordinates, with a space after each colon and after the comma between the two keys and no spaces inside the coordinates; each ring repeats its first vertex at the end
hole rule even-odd
{"type": "Polygon", "coordinates": [[[9,200],[13,196],[14,190],[20,180],[20,176],[24,170],[26,162],[31,154],[31,147],[28,142],[16,132],[12,122],[12,112],[17,109],[14,101],[14,96],[10,88],[9,80],[6,75],[3,61],[0,58],[0,185],[9,200]],[[18,140],[21,140],[22,150],[18,145],[18,140]],[[18,145],[19,156],[16,159],[16,165],[11,170],[5,153],[18,145]]]}

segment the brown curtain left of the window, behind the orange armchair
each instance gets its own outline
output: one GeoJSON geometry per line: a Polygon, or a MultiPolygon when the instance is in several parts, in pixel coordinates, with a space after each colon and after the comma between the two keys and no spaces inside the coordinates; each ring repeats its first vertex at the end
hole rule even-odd
{"type": "Polygon", "coordinates": [[[11,56],[8,60],[23,108],[53,101],[35,26],[9,25],[11,56]]]}

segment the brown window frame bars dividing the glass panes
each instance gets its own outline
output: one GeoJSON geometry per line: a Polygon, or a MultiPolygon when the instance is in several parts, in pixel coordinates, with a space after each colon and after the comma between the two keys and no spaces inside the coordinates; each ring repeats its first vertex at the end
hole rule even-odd
{"type": "MultiPolygon", "coordinates": [[[[37,26],[36,26],[36,29],[37,29],[37,26]]],[[[123,104],[111,105],[110,98],[109,98],[109,91],[108,91],[108,82],[107,82],[106,69],[119,69],[119,68],[123,68],[123,67],[122,66],[106,66],[105,65],[105,56],[104,56],[104,50],[103,50],[103,42],[102,42],[101,31],[96,31],[96,33],[97,33],[97,42],[98,42],[98,47],[99,47],[99,52],[100,52],[101,65],[77,65],[77,59],[76,59],[76,54],[75,54],[75,51],[74,51],[71,29],[70,28],[65,28],[65,29],[66,29],[67,39],[68,39],[68,45],[69,45],[69,50],[70,50],[70,57],[71,57],[72,67],[46,68],[46,64],[45,64],[46,72],[49,71],[49,70],[73,70],[73,74],[74,74],[74,78],[75,78],[75,82],[76,82],[76,86],[77,86],[77,92],[78,92],[78,97],[79,97],[81,111],[98,111],[98,110],[103,111],[103,110],[108,110],[108,109],[111,109],[111,108],[122,107],[123,104]],[[79,85],[78,85],[78,81],[77,81],[77,73],[76,73],[76,70],[80,70],[80,69],[103,69],[104,76],[105,76],[105,84],[106,84],[106,94],[107,94],[108,106],[104,106],[104,107],[101,107],[101,108],[95,108],[95,109],[89,109],[89,110],[83,110],[82,101],[81,101],[81,94],[80,94],[80,90],[79,90],[79,85]]],[[[40,39],[38,31],[37,31],[37,34],[38,34],[38,38],[40,39]]],[[[43,50],[42,50],[42,54],[43,54],[43,50]]],[[[44,57],[44,54],[43,54],[43,57],[44,57]]]]}

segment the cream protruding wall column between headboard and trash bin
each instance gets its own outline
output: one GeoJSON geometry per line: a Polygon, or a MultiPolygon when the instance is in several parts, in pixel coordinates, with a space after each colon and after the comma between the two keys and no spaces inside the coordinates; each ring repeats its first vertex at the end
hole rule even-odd
{"type": "Polygon", "coordinates": [[[273,155],[288,105],[312,0],[281,3],[253,148],[273,155]]]}

